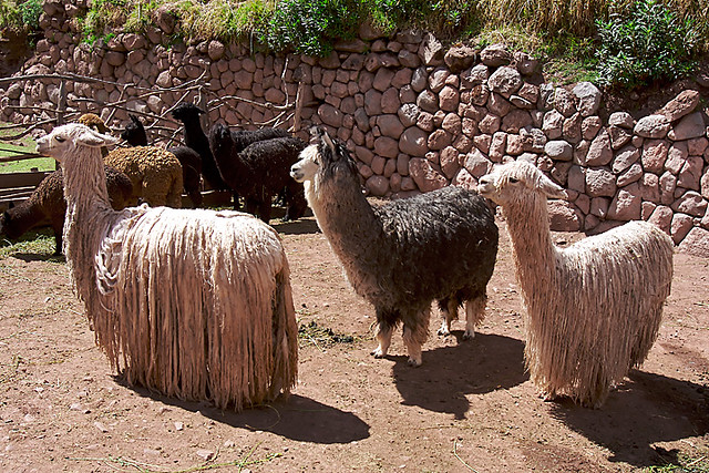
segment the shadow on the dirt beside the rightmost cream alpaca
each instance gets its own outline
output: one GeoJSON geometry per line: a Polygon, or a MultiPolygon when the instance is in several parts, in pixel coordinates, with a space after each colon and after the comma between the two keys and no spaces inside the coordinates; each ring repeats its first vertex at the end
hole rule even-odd
{"type": "Polygon", "coordinates": [[[709,390],[689,381],[633,370],[600,409],[571,400],[554,403],[552,413],[571,429],[613,452],[612,462],[637,467],[680,464],[677,450],[654,448],[709,432],[709,390]]]}

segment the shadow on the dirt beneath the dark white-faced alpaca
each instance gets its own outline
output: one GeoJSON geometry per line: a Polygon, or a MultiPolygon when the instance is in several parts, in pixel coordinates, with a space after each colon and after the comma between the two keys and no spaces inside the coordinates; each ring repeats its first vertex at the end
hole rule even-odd
{"type": "Polygon", "coordinates": [[[391,357],[393,379],[403,404],[449,412],[464,419],[470,403],[465,394],[484,394],[525,382],[524,343],[521,340],[476,333],[458,346],[423,350],[423,364],[411,368],[407,357],[391,357]]]}

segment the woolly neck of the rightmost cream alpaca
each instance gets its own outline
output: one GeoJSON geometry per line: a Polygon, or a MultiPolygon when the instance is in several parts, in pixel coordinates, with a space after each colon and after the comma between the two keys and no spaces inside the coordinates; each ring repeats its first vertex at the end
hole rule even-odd
{"type": "Polygon", "coordinates": [[[525,196],[503,207],[517,280],[528,301],[555,282],[557,248],[552,244],[546,197],[525,196]]]}

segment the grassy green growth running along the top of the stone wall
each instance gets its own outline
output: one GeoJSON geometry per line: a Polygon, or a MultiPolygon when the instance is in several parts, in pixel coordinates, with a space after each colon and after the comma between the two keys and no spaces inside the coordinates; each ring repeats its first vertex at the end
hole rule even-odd
{"type": "MultiPolygon", "coordinates": [[[[32,21],[20,19],[22,9],[18,4],[27,2],[29,6],[38,1],[0,0],[0,18],[4,14],[6,22],[21,22],[22,28],[29,28],[32,21]]],[[[144,32],[154,27],[153,13],[166,8],[176,19],[174,34],[165,39],[167,45],[179,41],[194,44],[217,39],[246,41],[257,51],[295,51],[310,55],[327,55],[335,41],[354,37],[359,25],[366,22],[384,33],[412,27],[433,32],[444,43],[470,42],[482,47],[504,42],[511,50],[542,59],[545,65],[548,64],[545,73],[553,81],[590,80],[600,83],[604,62],[613,62],[614,56],[604,62],[597,58],[596,52],[604,44],[598,34],[602,31],[599,25],[607,24],[614,16],[635,24],[630,18],[633,10],[648,1],[94,0],[85,13],[72,21],[81,31],[83,41],[94,43],[109,40],[117,30],[144,32]]],[[[685,41],[670,50],[672,55],[667,60],[662,56],[664,62],[682,59],[682,48],[689,55],[708,51],[709,6],[706,1],[657,2],[677,17],[670,25],[670,33],[679,37],[682,33],[680,24],[693,24],[698,34],[696,47],[685,41]]],[[[657,24],[649,27],[650,30],[658,29],[657,24]]],[[[626,44],[625,35],[629,33],[626,30],[620,33],[618,42],[626,44]]],[[[650,59],[658,55],[651,53],[650,59]]],[[[636,59],[628,58],[627,63],[638,63],[636,59]]],[[[675,68],[677,75],[689,74],[684,63],[678,64],[675,68]]]]}

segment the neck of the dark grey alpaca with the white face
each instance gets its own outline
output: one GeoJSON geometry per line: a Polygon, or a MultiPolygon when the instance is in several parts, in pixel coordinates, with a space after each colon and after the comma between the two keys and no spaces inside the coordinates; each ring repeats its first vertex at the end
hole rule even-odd
{"type": "Polygon", "coordinates": [[[349,269],[367,248],[383,243],[383,232],[356,176],[333,181],[307,182],[306,198],[332,250],[349,269]]]}

